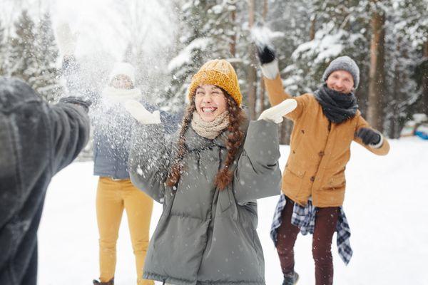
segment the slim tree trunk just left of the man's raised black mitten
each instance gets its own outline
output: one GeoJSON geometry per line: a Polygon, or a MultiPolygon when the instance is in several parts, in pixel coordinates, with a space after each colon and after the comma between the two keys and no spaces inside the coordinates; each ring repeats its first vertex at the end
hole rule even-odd
{"type": "MultiPolygon", "coordinates": [[[[248,26],[249,28],[253,28],[254,26],[254,18],[255,18],[255,0],[248,1],[248,26]]],[[[256,119],[255,113],[255,101],[256,101],[256,92],[257,92],[257,71],[255,69],[256,66],[256,58],[255,58],[255,46],[253,43],[250,43],[248,48],[250,64],[248,65],[248,110],[250,111],[250,119],[256,119]]]]}

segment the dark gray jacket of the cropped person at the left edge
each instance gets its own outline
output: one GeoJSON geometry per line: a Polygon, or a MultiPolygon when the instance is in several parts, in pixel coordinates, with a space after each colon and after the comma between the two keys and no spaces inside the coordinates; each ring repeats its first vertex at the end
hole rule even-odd
{"type": "Polygon", "coordinates": [[[88,142],[86,112],[80,100],[48,105],[23,81],[0,77],[0,284],[36,284],[46,188],[88,142]]]}

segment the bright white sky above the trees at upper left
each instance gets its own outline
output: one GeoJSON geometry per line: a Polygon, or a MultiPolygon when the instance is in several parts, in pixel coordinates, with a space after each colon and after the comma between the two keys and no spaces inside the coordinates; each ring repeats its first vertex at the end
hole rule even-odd
{"type": "Polygon", "coordinates": [[[54,26],[66,21],[78,33],[76,55],[111,53],[121,59],[129,40],[146,53],[170,45],[174,29],[167,0],[0,0],[2,24],[22,8],[38,17],[51,11],[54,26]]]}

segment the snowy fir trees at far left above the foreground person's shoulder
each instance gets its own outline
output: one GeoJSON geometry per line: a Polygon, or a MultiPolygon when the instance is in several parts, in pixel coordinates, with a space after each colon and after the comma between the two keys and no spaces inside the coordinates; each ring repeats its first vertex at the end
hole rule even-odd
{"type": "Polygon", "coordinates": [[[6,33],[0,21],[0,75],[16,76],[44,99],[54,101],[63,91],[56,68],[56,47],[51,16],[34,21],[26,10],[14,22],[13,33],[6,33]]]}

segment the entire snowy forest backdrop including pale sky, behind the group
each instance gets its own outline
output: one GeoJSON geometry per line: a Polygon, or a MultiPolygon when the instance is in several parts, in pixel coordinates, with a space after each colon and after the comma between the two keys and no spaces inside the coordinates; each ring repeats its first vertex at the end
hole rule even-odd
{"type": "MultiPolygon", "coordinates": [[[[54,37],[66,21],[93,88],[116,61],[136,67],[136,85],[170,112],[183,111],[191,76],[208,59],[238,72],[250,117],[269,108],[251,31],[275,46],[292,95],[312,92],[332,59],[360,66],[356,91],[369,123],[398,138],[414,113],[428,114],[428,0],[0,0],[0,75],[17,76],[54,102],[64,93],[54,37]],[[73,2],[73,3],[70,3],[73,2]]],[[[292,124],[284,121],[283,144],[292,124]]]]}

